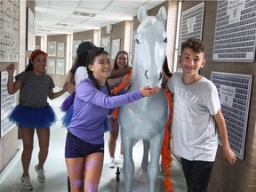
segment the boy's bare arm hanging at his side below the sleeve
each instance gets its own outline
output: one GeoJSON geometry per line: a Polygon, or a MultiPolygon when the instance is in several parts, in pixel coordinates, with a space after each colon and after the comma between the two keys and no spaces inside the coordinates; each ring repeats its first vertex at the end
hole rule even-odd
{"type": "Polygon", "coordinates": [[[228,132],[227,127],[225,123],[224,116],[222,115],[221,110],[218,111],[218,113],[214,116],[214,119],[216,121],[219,133],[220,133],[220,139],[222,141],[222,154],[226,162],[228,164],[235,164],[236,163],[236,154],[231,150],[228,142],[228,132]]]}

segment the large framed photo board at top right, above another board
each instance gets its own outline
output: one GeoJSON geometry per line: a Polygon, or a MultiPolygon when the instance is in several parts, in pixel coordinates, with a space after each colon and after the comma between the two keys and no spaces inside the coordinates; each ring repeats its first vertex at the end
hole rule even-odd
{"type": "Polygon", "coordinates": [[[212,60],[254,62],[255,7],[255,0],[218,1],[212,60]]]}

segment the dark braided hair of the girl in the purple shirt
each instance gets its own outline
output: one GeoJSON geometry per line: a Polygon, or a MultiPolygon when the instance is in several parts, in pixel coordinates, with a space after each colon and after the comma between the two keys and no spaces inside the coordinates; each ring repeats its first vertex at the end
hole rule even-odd
{"type": "MultiPolygon", "coordinates": [[[[100,54],[108,54],[108,52],[105,52],[104,50],[96,50],[96,51],[93,51],[93,52],[89,52],[88,54],[88,57],[87,57],[87,62],[86,62],[86,69],[87,69],[87,74],[88,74],[88,77],[92,80],[93,84],[96,86],[97,89],[100,90],[100,84],[98,82],[98,80],[92,75],[92,71],[90,70],[90,68],[88,68],[89,65],[92,65],[95,58],[97,56],[99,56],[100,54]]],[[[108,83],[106,81],[106,84],[108,86],[108,83]]]]}

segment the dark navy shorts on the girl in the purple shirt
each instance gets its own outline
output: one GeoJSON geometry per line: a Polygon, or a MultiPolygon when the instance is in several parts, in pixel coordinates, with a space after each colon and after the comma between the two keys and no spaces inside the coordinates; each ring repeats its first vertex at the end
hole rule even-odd
{"type": "Polygon", "coordinates": [[[71,132],[68,132],[65,146],[65,158],[79,158],[89,156],[92,153],[104,154],[104,143],[94,145],[80,140],[71,132]]]}

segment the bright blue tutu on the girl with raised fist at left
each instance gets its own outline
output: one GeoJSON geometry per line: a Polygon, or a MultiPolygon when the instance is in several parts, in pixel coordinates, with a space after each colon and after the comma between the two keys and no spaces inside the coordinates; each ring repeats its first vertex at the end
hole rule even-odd
{"type": "Polygon", "coordinates": [[[28,108],[17,105],[8,116],[9,120],[20,128],[50,128],[57,121],[51,106],[28,108]]]}

